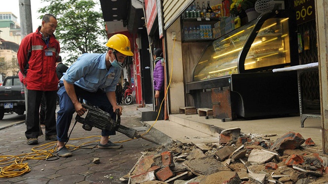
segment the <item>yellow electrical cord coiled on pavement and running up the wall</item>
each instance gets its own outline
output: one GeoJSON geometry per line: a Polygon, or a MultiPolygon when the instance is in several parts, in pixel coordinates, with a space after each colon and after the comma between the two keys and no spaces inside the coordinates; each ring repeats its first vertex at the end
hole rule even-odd
{"type": "MultiPolygon", "coordinates": [[[[173,51],[174,51],[175,43],[176,43],[176,39],[174,39],[174,42],[173,42],[172,58],[171,58],[171,74],[170,74],[170,81],[169,81],[169,84],[167,86],[167,89],[170,87],[171,80],[172,80],[173,51]]],[[[157,123],[159,113],[160,113],[161,108],[162,108],[162,104],[163,104],[163,102],[164,102],[164,100],[167,96],[167,92],[168,92],[168,90],[166,90],[166,92],[165,92],[165,95],[164,95],[164,98],[163,98],[163,100],[161,102],[161,105],[159,107],[158,114],[157,114],[155,122],[142,135],[147,134],[150,131],[150,129],[157,123]]],[[[89,136],[89,137],[84,137],[84,138],[73,138],[73,139],[70,139],[70,140],[80,140],[80,139],[88,139],[88,138],[94,138],[94,137],[99,137],[100,138],[101,136],[89,136]]],[[[125,141],[119,141],[119,143],[127,142],[127,141],[130,141],[130,140],[133,140],[133,139],[127,139],[125,141]]],[[[75,151],[75,150],[80,149],[83,145],[90,144],[90,143],[95,143],[95,142],[99,142],[99,141],[100,141],[100,139],[95,140],[95,141],[89,141],[89,142],[83,143],[79,146],[66,145],[66,147],[69,150],[75,151]]],[[[6,164],[12,163],[11,165],[0,167],[0,178],[13,178],[13,177],[17,177],[17,176],[20,176],[20,175],[23,175],[25,173],[30,172],[31,169],[28,166],[28,162],[23,163],[24,160],[29,160],[29,159],[50,160],[50,158],[52,158],[52,157],[58,157],[54,153],[54,152],[56,152],[56,147],[55,147],[56,145],[57,145],[56,142],[50,142],[50,143],[47,143],[47,144],[43,144],[43,145],[40,145],[40,146],[33,147],[32,148],[32,153],[20,154],[20,155],[16,155],[16,156],[13,156],[13,155],[2,155],[2,156],[0,156],[0,158],[2,158],[2,159],[0,159],[0,165],[6,165],[6,164]],[[39,148],[41,148],[41,149],[37,150],[39,148]],[[48,148],[51,148],[51,149],[48,149],[48,148]],[[12,160],[12,159],[14,159],[14,160],[12,160]],[[9,161],[9,160],[12,160],[12,161],[9,161]],[[5,162],[5,161],[9,161],[9,162],[5,162]],[[2,162],[4,162],[4,163],[2,163],[2,162]]],[[[87,147],[87,148],[84,148],[84,149],[93,149],[93,148],[96,147],[96,145],[93,146],[93,147],[87,147]]],[[[56,159],[58,159],[58,158],[56,158],[56,159]]]]}

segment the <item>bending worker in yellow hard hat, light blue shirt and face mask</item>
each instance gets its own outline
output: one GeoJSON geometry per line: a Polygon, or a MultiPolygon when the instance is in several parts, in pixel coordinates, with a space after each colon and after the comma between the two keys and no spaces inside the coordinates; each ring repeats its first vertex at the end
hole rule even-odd
{"type": "MultiPolygon", "coordinates": [[[[72,153],[65,147],[68,142],[68,131],[73,113],[82,116],[86,109],[82,107],[79,98],[85,99],[91,105],[108,112],[115,120],[115,110],[122,107],[116,104],[116,84],[121,76],[121,69],[127,56],[133,56],[128,37],[114,34],[106,44],[109,47],[104,54],[83,54],[66,71],[59,83],[59,106],[57,116],[57,154],[68,157],[72,153]]],[[[102,130],[100,148],[122,148],[122,145],[109,141],[109,135],[115,131],[102,130]]]]}

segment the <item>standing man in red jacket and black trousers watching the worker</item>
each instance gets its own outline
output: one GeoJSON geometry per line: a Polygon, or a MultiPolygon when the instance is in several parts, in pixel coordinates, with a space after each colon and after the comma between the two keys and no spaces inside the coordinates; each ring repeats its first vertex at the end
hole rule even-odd
{"type": "Polygon", "coordinates": [[[42,26],[22,39],[17,52],[20,71],[25,76],[24,85],[28,90],[25,136],[29,145],[38,144],[39,107],[43,92],[46,98],[45,140],[57,141],[55,111],[58,78],[56,61],[60,46],[53,34],[56,27],[56,17],[45,14],[42,18],[42,26]]]}

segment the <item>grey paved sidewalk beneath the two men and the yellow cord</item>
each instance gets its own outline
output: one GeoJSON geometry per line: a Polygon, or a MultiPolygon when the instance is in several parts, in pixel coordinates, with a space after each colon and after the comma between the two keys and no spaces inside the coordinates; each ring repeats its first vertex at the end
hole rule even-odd
{"type": "MultiPolygon", "coordinates": [[[[121,124],[139,130],[146,129],[140,120],[141,113],[137,110],[136,104],[123,105],[121,124]]],[[[70,131],[74,122],[73,118],[70,131]]],[[[70,141],[67,143],[70,150],[73,151],[73,156],[68,158],[60,157],[57,160],[48,161],[45,160],[46,150],[51,150],[56,142],[45,141],[44,135],[42,135],[38,137],[38,145],[27,145],[25,130],[25,123],[16,123],[16,125],[0,130],[0,159],[5,155],[8,155],[7,157],[12,155],[23,158],[26,154],[30,154],[28,156],[29,159],[24,160],[22,163],[28,163],[28,167],[31,169],[29,173],[21,176],[0,178],[1,184],[121,183],[119,178],[126,175],[133,168],[141,157],[141,152],[158,146],[143,139],[127,141],[129,140],[127,136],[117,132],[109,140],[121,142],[123,148],[99,149],[95,146],[99,142],[98,140],[100,140],[98,136],[101,130],[93,128],[91,131],[85,131],[81,123],[76,123],[70,141]],[[93,159],[96,157],[100,158],[99,164],[93,163],[93,159]]],[[[148,135],[145,136],[148,137],[148,135]]],[[[9,161],[1,161],[0,167],[10,165],[6,164],[9,161]]]]}

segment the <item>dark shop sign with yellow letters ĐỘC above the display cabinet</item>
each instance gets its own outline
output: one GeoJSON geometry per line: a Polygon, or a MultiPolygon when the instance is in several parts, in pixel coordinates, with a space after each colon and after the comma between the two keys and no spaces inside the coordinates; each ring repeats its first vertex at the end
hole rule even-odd
{"type": "Polygon", "coordinates": [[[302,23],[315,20],[315,0],[290,0],[291,6],[296,11],[296,23],[302,23]]]}

